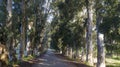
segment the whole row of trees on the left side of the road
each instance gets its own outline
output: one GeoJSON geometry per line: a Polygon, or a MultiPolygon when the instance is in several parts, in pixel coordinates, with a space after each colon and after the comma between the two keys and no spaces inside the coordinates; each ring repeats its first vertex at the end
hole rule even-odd
{"type": "MultiPolygon", "coordinates": [[[[49,1],[0,1],[0,46],[6,47],[0,48],[8,49],[8,63],[23,60],[25,56],[39,55],[47,48],[44,33],[48,29],[49,9],[48,6],[43,7],[45,3],[49,4],[49,1]]],[[[0,58],[2,55],[0,53],[0,58]]],[[[0,59],[0,63],[2,61],[0,59]]]]}

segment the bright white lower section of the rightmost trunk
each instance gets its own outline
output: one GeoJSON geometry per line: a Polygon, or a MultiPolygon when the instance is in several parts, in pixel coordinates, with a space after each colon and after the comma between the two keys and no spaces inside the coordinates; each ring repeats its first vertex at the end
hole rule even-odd
{"type": "Polygon", "coordinates": [[[97,67],[105,67],[104,35],[97,33],[97,67]]]}

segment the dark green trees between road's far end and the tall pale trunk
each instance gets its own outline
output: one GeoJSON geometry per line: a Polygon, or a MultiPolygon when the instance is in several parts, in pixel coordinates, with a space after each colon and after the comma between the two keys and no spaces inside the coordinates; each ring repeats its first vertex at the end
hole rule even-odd
{"type": "Polygon", "coordinates": [[[81,21],[79,17],[81,16],[76,15],[79,14],[78,12],[80,10],[82,10],[82,8],[78,8],[81,6],[80,3],[81,2],[74,0],[55,1],[53,3],[54,8],[58,10],[54,12],[56,14],[53,22],[51,23],[51,45],[54,49],[60,50],[60,52],[62,51],[63,54],[67,56],[69,55],[71,58],[77,57],[74,54],[78,54],[79,47],[81,46],[80,43],[82,44],[81,40],[83,38],[83,34],[78,33],[83,32],[82,24],[81,26],[79,25],[79,21],[81,21]],[[79,39],[80,37],[81,39],[79,39]]]}

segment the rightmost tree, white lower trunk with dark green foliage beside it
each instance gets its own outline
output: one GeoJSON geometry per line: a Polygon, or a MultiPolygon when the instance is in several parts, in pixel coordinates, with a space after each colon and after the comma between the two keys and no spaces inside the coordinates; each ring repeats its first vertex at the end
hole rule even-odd
{"type": "Polygon", "coordinates": [[[119,3],[119,0],[97,1],[98,67],[105,67],[105,46],[107,51],[119,48],[119,3]]]}

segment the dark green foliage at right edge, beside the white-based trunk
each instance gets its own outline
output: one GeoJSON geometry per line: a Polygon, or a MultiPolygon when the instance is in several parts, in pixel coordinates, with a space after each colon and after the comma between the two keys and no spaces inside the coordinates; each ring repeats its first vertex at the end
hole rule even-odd
{"type": "Polygon", "coordinates": [[[107,51],[112,55],[114,50],[118,50],[119,46],[119,0],[109,0],[105,1],[105,15],[103,18],[104,23],[101,24],[100,28],[105,35],[105,46],[107,51]],[[118,47],[118,48],[117,48],[118,47]]]}

